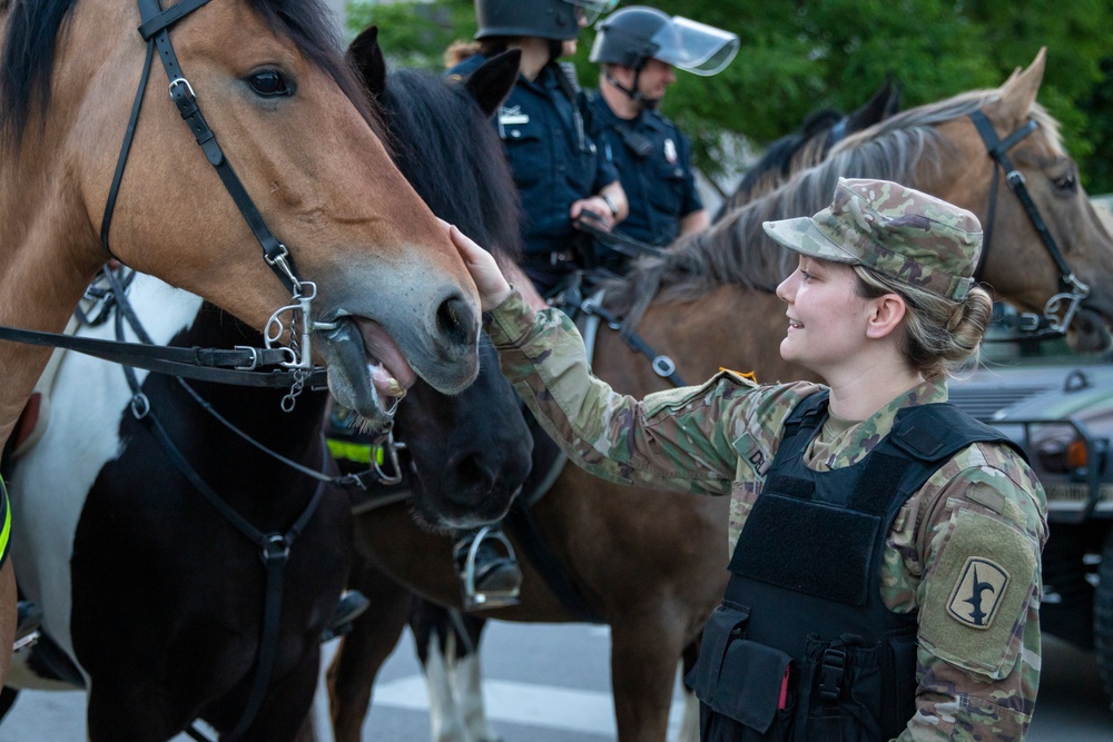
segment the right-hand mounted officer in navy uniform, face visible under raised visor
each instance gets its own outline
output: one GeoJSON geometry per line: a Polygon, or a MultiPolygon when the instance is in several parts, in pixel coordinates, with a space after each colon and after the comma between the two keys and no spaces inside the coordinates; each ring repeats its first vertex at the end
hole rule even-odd
{"type": "MultiPolygon", "coordinates": [[[[618,230],[649,245],[710,224],[696,190],[688,138],[658,110],[676,69],[716,75],[738,52],[738,37],[660,10],[633,6],[600,21],[591,61],[602,66],[589,96],[592,125],[610,147],[630,201],[618,230]]],[[[597,245],[603,267],[626,259],[597,245]]]]}

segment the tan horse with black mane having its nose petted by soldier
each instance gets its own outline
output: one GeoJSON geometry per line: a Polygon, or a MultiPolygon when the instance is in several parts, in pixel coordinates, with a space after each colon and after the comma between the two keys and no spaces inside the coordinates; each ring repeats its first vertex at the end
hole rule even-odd
{"type": "MultiPolygon", "coordinates": [[[[384,417],[368,374],[381,362],[403,383],[412,367],[443,390],[465,386],[476,370],[474,288],[392,164],[324,4],[184,0],[175,10],[180,20],[159,14],[157,0],[0,3],[0,325],[60,332],[112,255],[259,329],[298,304],[288,289],[299,288],[303,306],[336,320],[317,334],[334,390],[371,419],[384,417]],[[136,28],[148,19],[145,63],[136,28]],[[158,69],[169,57],[180,113],[158,69]],[[194,91],[205,120],[190,112],[194,91]],[[235,200],[221,186],[229,174],[235,200]]],[[[0,343],[0,441],[48,356],[0,343]]],[[[11,645],[13,596],[6,565],[0,646],[11,645]]]]}

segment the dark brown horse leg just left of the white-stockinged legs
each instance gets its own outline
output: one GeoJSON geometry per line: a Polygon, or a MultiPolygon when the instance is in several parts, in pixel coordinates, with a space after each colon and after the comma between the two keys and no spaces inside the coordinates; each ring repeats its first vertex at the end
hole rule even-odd
{"type": "Polygon", "coordinates": [[[348,586],[362,592],[371,609],[352,623],[328,667],[336,742],[359,742],[375,675],[398,643],[413,600],[410,591],[366,562],[353,565],[348,586]]]}

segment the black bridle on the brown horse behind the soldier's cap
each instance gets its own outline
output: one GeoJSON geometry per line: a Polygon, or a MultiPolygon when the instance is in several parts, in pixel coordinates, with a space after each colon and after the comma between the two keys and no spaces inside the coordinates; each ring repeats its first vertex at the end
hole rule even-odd
{"type": "Polygon", "coordinates": [[[989,209],[986,216],[985,235],[982,240],[982,256],[978,260],[978,269],[975,273],[981,273],[982,267],[985,265],[986,256],[989,253],[989,243],[993,237],[993,222],[997,208],[997,182],[1001,172],[1004,171],[1005,181],[1008,184],[1009,190],[1016,194],[1016,198],[1020,199],[1021,206],[1024,207],[1024,212],[1027,214],[1028,220],[1032,221],[1032,226],[1040,235],[1040,239],[1043,240],[1044,247],[1047,248],[1047,254],[1051,255],[1052,260],[1055,261],[1055,267],[1058,268],[1060,274],[1060,286],[1063,288],[1063,291],[1055,294],[1047,299],[1047,303],[1044,305],[1043,316],[1031,311],[1021,313],[1018,329],[1026,335],[1063,335],[1066,333],[1066,328],[1070,326],[1071,320],[1078,310],[1078,305],[1090,295],[1090,287],[1078,280],[1078,278],[1071,270],[1071,267],[1066,264],[1066,258],[1063,257],[1062,251],[1058,249],[1058,245],[1055,244],[1055,238],[1052,236],[1051,231],[1047,229],[1046,222],[1044,222],[1043,217],[1040,215],[1040,209],[1036,208],[1031,194],[1028,194],[1028,189],[1024,180],[1024,174],[1016,169],[1013,165],[1013,160],[1008,157],[1008,150],[1015,147],[1030,133],[1035,131],[1040,125],[1035,119],[1028,119],[1025,125],[1009,133],[1004,139],[999,139],[996,130],[993,128],[993,123],[985,113],[977,110],[972,112],[969,117],[974,122],[974,127],[977,129],[977,132],[981,135],[982,141],[985,142],[989,157],[993,158],[994,161],[993,182],[989,186],[989,209]]]}

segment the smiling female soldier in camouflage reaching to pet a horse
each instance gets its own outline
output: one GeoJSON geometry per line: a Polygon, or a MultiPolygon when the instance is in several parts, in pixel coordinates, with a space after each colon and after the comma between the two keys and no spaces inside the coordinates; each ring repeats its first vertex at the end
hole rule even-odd
{"type": "Polygon", "coordinates": [[[731,577],[687,682],[705,740],[1020,740],[1040,673],[1045,499],[999,434],[946,404],[991,316],[976,217],[840,180],[797,251],[781,355],[811,383],[618,395],[554,309],[534,313],[450,229],[503,370],[580,466],[730,493],[731,577]]]}

